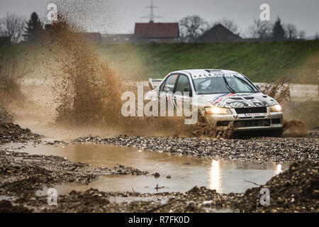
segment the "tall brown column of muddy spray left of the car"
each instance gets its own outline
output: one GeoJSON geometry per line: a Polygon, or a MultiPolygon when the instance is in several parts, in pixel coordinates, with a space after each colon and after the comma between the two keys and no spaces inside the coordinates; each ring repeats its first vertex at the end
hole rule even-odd
{"type": "Polygon", "coordinates": [[[65,21],[52,29],[52,37],[57,45],[55,60],[63,62],[62,73],[54,74],[57,122],[118,124],[123,80],[65,21]]]}

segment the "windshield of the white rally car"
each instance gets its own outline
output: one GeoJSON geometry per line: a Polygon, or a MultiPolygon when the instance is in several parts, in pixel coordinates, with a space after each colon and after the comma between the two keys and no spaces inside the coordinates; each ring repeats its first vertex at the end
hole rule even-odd
{"type": "Polygon", "coordinates": [[[218,93],[255,93],[259,92],[254,85],[245,77],[220,76],[194,79],[198,94],[218,93]]]}

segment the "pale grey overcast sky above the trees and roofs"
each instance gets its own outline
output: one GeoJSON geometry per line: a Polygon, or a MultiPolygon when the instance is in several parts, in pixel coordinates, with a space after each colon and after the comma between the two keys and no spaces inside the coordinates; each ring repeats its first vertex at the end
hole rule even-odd
{"type": "MultiPolygon", "coordinates": [[[[57,2],[77,23],[88,31],[101,33],[133,33],[135,22],[147,22],[150,0],[0,0],[0,17],[6,12],[30,17],[33,11],[45,16],[47,4],[57,2]]],[[[154,0],[155,13],[162,18],[155,22],[177,22],[184,16],[197,14],[209,23],[223,17],[231,18],[247,31],[254,18],[259,18],[259,6],[270,6],[270,18],[293,23],[298,30],[313,36],[319,32],[319,0],[154,0]]]]}

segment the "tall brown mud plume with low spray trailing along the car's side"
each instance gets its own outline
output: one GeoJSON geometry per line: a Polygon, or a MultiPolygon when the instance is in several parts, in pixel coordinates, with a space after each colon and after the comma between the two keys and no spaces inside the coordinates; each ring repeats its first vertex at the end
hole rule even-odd
{"type": "Polygon", "coordinates": [[[126,85],[121,75],[101,60],[76,31],[60,16],[45,43],[54,56],[53,65],[59,66],[50,68],[56,124],[78,129],[97,127],[128,135],[191,135],[183,126],[184,119],[122,116],[121,95],[134,92],[133,87],[126,85]]]}

